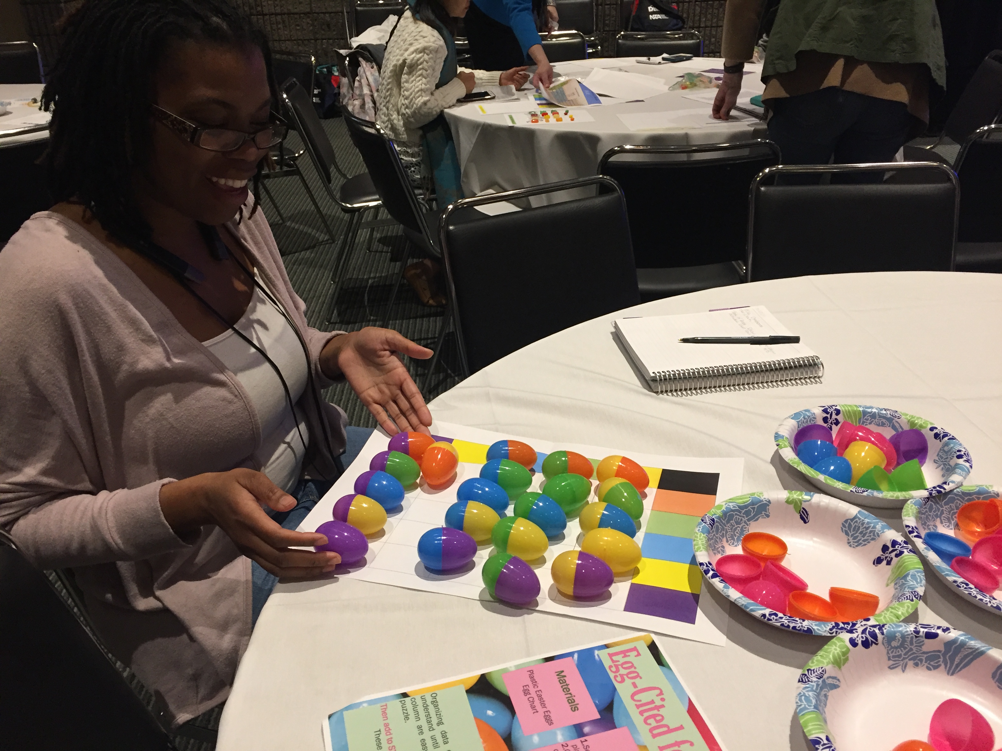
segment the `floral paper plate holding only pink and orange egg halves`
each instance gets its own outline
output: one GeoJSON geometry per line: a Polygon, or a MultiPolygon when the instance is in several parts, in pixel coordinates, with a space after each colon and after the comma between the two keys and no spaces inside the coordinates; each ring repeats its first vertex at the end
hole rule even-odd
{"type": "Polygon", "coordinates": [[[821,494],[771,491],[728,499],[696,524],[692,548],[699,569],[724,597],[766,623],[802,634],[835,636],[895,623],[918,607],[926,588],[922,561],[901,535],[872,514],[821,494]],[[880,597],[880,610],[862,621],[829,623],[784,615],[749,600],[714,566],[720,556],[741,552],[747,532],[783,538],[789,548],[783,565],[808,583],[809,592],[826,599],[830,587],[870,592],[880,597]]]}

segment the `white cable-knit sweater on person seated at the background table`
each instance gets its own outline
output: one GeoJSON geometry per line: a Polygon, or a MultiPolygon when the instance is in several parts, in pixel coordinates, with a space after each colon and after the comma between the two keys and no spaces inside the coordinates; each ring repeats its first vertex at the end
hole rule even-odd
{"type": "MultiPolygon", "coordinates": [[[[376,119],[393,140],[420,146],[421,126],[466,95],[466,86],[458,76],[442,88],[435,88],[445,56],[442,35],[415,20],[410,9],[405,10],[386,47],[376,92],[376,119]]],[[[501,75],[499,71],[470,72],[476,76],[478,86],[496,86],[501,75]]]]}

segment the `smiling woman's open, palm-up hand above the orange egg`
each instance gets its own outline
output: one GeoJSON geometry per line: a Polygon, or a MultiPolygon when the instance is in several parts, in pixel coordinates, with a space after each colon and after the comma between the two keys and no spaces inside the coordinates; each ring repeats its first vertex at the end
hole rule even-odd
{"type": "Polygon", "coordinates": [[[429,433],[432,414],[397,352],[417,359],[433,354],[397,331],[366,326],[331,339],[320,353],[320,366],[328,378],[343,373],[391,436],[399,431],[429,433]]]}

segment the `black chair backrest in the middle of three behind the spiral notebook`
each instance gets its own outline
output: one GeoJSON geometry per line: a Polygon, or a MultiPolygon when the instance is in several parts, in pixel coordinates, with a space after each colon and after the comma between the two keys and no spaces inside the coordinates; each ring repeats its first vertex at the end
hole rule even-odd
{"type": "Polygon", "coordinates": [[[780,163],[772,141],[698,146],[616,146],[599,174],[626,196],[637,268],[743,260],[748,188],[780,163]]]}

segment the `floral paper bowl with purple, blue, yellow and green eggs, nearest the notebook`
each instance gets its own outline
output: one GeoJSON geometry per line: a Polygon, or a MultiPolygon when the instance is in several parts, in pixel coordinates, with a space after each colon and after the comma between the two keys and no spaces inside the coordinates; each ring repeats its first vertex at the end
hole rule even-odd
{"type": "Polygon", "coordinates": [[[851,504],[872,506],[878,509],[900,509],[915,498],[932,498],[948,493],[967,480],[971,474],[971,455],[953,435],[937,428],[928,420],[883,407],[864,405],[827,405],[801,410],[780,423],[776,429],[776,447],[791,467],[802,472],[808,480],[824,493],[851,504]],[[855,485],[840,483],[822,475],[801,462],[794,453],[793,442],[797,432],[809,425],[823,425],[833,433],[843,422],[862,425],[871,431],[890,438],[896,433],[916,428],[922,431],[929,443],[929,459],[923,466],[926,480],[933,485],[922,491],[884,493],[855,485]]]}

